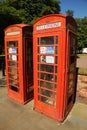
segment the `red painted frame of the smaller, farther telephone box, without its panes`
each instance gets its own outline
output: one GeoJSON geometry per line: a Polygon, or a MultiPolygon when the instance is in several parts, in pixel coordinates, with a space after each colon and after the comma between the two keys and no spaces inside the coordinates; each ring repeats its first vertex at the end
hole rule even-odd
{"type": "MultiPolygon", "coordinates": [[[[27,62],[25,61],[26,59],[26,52],[25,52],[25,44],[26,44],[26,39],[28,39],[32,43],[32,26],[29,26],[28,24],[14,24],[8,26],[5,30],[5,57],[6,57],[6,78],[7,78],[7,86],[8,86],[8,96],[22,104],[27,103],[29,100],[33,98],[33,94],[30,93],[27,94],[27,81],[26,81],[26,64],[27,62]],[[18,34],[17,32],[18,31],[18,34]],[[16,33],[16,34],[15,34],[16,33]],[[18,66],[17,66],[17,71],[18,71],[18,86],[16,86],[19,90],[19,92],[16,92],[12,90],[11,84],[10,84],[10,76],[9,76],[9,66],[8,62],[8,46],[7,42],[9,41],[17,41],[18,46],[17,46],[17,56],[18,60],[16,61],[18,66]],[[25,63],[26,62],[26,63],[25,63]]],[[[13,68],[14,69],[14,68],[13,68]]],[[[14,79],[13,79],[14,81],[14,79]]],[[[33,80],[32,80],[33,81],[33,80]]],[[[33,88],[33,83],[31,85],[33,88]]]]}

